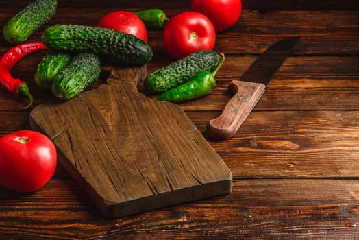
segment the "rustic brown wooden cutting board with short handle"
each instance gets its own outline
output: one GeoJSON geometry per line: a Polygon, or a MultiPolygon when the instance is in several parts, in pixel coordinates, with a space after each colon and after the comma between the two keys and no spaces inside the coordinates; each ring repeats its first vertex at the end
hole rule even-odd
{"type": "Polygon", "coordinates": [[[232,190],[232,173],[182,109],[138,92],[145,74],[145,66],[114,68],[108,84],[30,113],[107,217],[232,190]]]}

